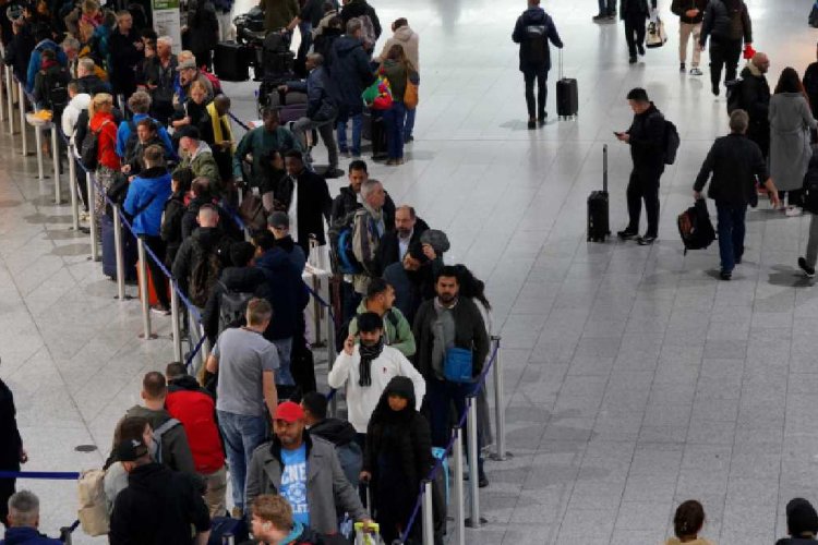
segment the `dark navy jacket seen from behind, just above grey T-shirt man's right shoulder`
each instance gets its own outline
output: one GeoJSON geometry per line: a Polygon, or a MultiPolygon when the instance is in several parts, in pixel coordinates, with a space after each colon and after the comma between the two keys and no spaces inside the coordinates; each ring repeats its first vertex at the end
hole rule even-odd
{"type": "Polygon", "coordinates": [[[273,306],[273,320],[264,331],[267,340],[288,339],[296,334],[299,314],[310,301],[301,274],[281,249],[267,250],[255,261],[256,268],[264,272],[266,282],[256,294],[273,306]]]}

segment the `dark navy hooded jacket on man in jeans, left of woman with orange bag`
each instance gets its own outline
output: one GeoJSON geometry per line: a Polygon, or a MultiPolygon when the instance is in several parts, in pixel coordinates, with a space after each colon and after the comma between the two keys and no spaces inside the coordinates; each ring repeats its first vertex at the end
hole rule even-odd
{"type": "Polygon", "coordinates": [[[359,39],[344,35],[335,40],[329,52],[329,76],[338,89],[340,119],[361,113],[361,93],[375,81],[375,76],[359,39]]]}

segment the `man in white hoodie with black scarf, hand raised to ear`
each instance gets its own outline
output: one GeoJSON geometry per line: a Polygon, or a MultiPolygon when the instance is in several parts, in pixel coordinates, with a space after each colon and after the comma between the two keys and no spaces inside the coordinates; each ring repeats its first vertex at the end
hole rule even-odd
{"type": "Polygon", "coordinates": [[[357,322],[360,343],[356,343],[354,335],[347,337],[344,351],[338,354],[327,376],[327,384],[330,388],[346,385],[348,420],[358,432],[356,440],[363,448],[370,415],[389,380],[396,376],[412,380],[418,393],[418,410],[426,392],[426,383],[400,351],[384,346],[381,316],[364,312],[358,315],[357,322]]]}

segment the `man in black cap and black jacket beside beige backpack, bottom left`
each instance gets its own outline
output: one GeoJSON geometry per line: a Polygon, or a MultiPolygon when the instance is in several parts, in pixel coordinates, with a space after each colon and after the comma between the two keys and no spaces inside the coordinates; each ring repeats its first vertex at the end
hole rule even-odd
{"type": "Polygon", "coordinates": [[[194,476],[154,462],[147,446],[136,439],[118,445],[117,455],[128,472],[128,488],[113,504],[111,545],[207,543],[210,513],[194,476]]]}

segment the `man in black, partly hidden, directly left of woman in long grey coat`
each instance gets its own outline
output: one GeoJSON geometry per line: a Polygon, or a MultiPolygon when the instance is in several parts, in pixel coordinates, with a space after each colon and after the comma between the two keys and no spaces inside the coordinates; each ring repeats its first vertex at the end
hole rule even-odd
{"type": "Polygon", "coordinates": [[[742,70],[739,104],[749,116],[747,137],[758,144],[761,155],[767,159],[770,153],[770,85],[767,83],[767,71],[770,59],[757,52],[742,70]]]}

